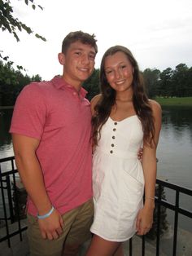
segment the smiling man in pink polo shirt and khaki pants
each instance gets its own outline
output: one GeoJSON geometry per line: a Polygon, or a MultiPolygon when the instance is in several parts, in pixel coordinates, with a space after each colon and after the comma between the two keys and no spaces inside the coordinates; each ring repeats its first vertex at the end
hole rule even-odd
{"type": "Polygon", "coordinates": [[[76,255],[89,238],[91,113],[81,88],[94,70],[94,35],[76,31],[63,40],[63,76],[21,91],[11,121],[16,166],[28,192],[31,256],[76,255]]]}

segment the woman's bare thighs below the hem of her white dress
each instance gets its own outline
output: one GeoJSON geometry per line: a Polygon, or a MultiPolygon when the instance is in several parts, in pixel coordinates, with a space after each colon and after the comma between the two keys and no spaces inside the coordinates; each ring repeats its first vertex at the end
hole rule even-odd
{"type": "Polygon", "coordinates": [[[86,256],[123,256],[120,242],[107,241],[94,235],[86,256]]]}

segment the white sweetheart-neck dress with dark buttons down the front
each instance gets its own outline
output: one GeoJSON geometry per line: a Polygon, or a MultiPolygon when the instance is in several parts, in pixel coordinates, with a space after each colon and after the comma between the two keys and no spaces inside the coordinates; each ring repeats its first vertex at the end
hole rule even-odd
{"type": "Polygon", "coordinates": [[[142,146],[137,115],[108,118],[93,157],[94,223],[90,231],[107,241],[126,241],[136,232],[144,176],[137,152],[142,146]]]}

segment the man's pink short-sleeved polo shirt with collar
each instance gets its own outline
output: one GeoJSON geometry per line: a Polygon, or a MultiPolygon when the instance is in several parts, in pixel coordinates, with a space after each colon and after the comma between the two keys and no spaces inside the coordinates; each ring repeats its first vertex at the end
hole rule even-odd
{"type": "MultiPolygon", "coordinates": [[[[11,133],[40,140],[37,157],[46,191],[61,214],[93,196],[91,113],[85,95],[61,77],[33,82],[18,96],[11,121],[11,133]]],[[[30,198],[28,213],[37,215],[30,198]]]]}

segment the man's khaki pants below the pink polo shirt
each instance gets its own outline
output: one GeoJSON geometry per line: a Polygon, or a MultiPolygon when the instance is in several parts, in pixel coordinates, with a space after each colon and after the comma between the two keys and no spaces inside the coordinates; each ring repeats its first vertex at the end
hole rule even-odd
{"type": "Polygon", "coordinates": [[[37,218],[28,214],[28,242],[30,256],[61,256],[64,245],[81,245],[89,240],[89,227],[93,222],[93,200],[63,214],[63,233],[56,240],[41,237],[37,218]]]}

